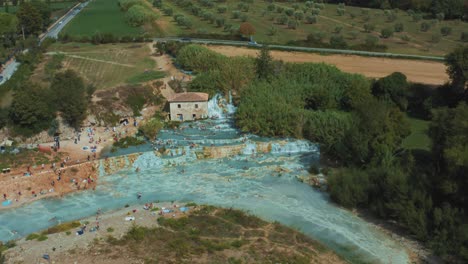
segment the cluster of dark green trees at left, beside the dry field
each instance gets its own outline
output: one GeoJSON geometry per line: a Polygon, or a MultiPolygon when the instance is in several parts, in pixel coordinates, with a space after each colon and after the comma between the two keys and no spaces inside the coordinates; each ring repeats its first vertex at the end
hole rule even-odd
{"type": "Polygon", "coordinates": [[[15,134],[32,136],[48,128],[56,128],[53,124],[57,123],[57,113],[70,126],[78,127],[86,117],[94,87],[85,86],[73,71],[59,72],[62,68],[59,56],[45,65],[50,86],[42,87],[30,82],[29,78],[43,59],[43,53],[53,42],[46,39],[39,46],[35,39],[31,40],[26,46],[28,52],[16,57],[21,63],[18,70],[2,85],[3,91],[12,91],[13,100],[9,107],[0,109],[0,128],[9,126],[15,134]]]}

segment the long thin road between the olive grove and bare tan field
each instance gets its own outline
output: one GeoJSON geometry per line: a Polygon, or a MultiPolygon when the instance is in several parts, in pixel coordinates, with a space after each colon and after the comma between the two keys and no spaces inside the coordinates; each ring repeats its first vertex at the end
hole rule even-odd
{"type": "MultiPolygon", "coordinates": [[[[155,41],[179,41],[179,42],[191,42],[200,44],[221,44],[221,45],[232,45],[232,46],[250,46],[250,47],[261,47],[261,44],[249,44],[248,41],[237,41],[237,40],[220,40],[220,39],[195,39],[186,37],[167,37],[167,38],[154,38],[155,41]]],[[[437,56],[421,56],[411,54],[396,54],[396,53],[385,53],[385,52],[370,52],[370,51],[358,51],[358,50],[339,50],[339,49],[324,49],[324,48],[311,48],[311,47],[300,47],[300,46],[284,46],[284,45],[269,45],[270,48],[291,50],[291,51],[305,51],[305,52],[321,52],[321,53],[332,53],[332,54],[349,54],[349,55],[360,55],[360,56],[371,56],[371,57],[390,57],[390,58],[404,58],[404,59],[422,59],[422,60],[435,60],[443,61],[444,57],[437,56]]]]}

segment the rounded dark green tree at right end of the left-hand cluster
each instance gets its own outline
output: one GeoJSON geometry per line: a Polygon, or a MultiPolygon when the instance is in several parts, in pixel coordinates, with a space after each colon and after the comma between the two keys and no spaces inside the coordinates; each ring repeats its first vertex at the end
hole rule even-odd
{"type": "Polygon", "coordinates": [[[50,90],[63,119],[72,127],[78,128],[87,116],[88,100],[83,79],[74,71],[57,73],[50,90]]]}

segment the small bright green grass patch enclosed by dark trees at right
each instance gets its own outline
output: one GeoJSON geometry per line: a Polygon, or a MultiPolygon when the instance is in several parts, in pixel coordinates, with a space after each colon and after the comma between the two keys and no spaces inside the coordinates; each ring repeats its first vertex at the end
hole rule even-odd
{"type": "Polygon", "coordinates": [[[429,121],[408,118],[411,126],[411,134],[403,140],[402,146],[406,149],[430,150],[431,140],[427,135],[429,121]]]}

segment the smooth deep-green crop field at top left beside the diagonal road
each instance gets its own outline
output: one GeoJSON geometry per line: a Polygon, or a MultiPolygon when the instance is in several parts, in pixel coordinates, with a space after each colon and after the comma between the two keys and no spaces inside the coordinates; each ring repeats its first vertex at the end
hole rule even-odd
{"type": "Polygon", "coordinates": [[[73,36],[112,33],[114,36],[138,36],[142,28],[129,26],[116,0],[92,0],[62,31],[73,36]]]}

